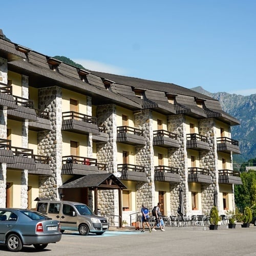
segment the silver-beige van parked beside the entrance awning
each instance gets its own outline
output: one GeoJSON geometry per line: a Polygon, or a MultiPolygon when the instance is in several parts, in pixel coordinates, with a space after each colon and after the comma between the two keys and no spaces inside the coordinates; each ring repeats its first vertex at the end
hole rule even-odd
{"type": "Polygon", "coordinates": [[[86,205],[71,201],[38,201],[36,210],[53,220],[58,220],[61,232],[65,230],[78,230],[82,236],[89,232],[103,234],[109,228],[106,218],[93,214],[86,205]]]}

